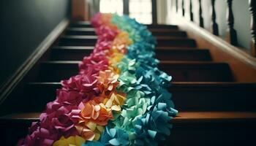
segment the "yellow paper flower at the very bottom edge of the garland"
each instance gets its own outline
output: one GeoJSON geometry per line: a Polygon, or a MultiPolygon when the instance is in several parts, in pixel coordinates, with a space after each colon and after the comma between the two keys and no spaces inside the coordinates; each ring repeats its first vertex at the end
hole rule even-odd
{"type": "Polygon", "coordinates": [[[53,143],[53,146],[80,146],[85,141],[85,139],[79,136],[68,137],[67,139],[65,139],[65,137],[61,137],[61,139],[53,143]]]}

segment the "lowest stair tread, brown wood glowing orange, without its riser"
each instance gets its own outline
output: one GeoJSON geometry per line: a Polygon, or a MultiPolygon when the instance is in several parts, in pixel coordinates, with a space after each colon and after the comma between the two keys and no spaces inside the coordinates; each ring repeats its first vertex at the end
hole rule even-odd
{"type": "MultiPolygon", "coordinates": [[[[0,120],[39,120],[40,112],[4,115],[0,120]]],[[[256,120],[256,112],[178,112],[172,123],[217,122],[225,120],[256,120]]]]}

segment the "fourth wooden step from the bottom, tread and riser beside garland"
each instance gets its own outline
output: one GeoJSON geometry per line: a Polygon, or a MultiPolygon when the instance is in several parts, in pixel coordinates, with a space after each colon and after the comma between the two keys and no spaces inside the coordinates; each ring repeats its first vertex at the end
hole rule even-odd
{"type": "MultiPolygon", "coordinates": [[[[84,56],[90,55],[93,47],[56,46],[51,50],[53,61],[81,61],[84,56]]],[[[161,61],[211,61],[208,50],[192,49],[157,49],[157,58],[161,61]]]]}

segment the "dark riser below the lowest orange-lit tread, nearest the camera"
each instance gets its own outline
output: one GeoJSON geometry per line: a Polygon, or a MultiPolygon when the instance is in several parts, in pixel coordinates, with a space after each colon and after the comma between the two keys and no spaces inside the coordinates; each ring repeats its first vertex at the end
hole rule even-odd
{"type": "MultiPolygon", "coordinates": [[[[15,145],[18,139],[26,136],[31,120],[10,121],[1,124],[1,145],[15,145]]],[[[170,136],[160,145],[244,145],[254,142],[253,121],[225,123],[178,123],[173,124],[170,136]]]]}

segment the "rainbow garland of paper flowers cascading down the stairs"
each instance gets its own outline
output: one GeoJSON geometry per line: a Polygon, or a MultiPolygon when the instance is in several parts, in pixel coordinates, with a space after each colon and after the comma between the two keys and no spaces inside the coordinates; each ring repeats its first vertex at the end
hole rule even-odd
{"type": "Polygon", "coordinates": [[[177,114],[157,69],[156,40],[127,16],[98,13],[94,52],[79,74],[61,81],[55,101],[18,145],[158,145],[177,114]]]}

